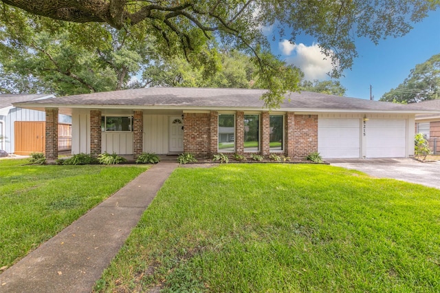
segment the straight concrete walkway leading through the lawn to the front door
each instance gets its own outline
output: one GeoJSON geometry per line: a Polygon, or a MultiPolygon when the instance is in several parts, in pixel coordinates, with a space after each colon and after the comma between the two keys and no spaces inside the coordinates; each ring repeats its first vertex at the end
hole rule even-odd
{"type": "Polygon", "coordinates": [[[159,162],[12,265],[0,292],[91,292],[176,167],[159,162]]]}

